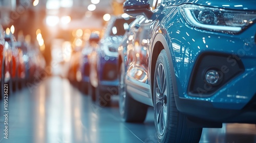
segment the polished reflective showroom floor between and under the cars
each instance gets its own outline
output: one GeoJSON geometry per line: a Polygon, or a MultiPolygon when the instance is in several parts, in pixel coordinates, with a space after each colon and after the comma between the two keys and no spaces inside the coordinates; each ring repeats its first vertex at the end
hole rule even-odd
{"type": "MultiPolygon", "coordinates": [[[[1,143],[157,142],[152,108],[144,124],[124,123],[117,99],[113,107],[101,108],[60,77],[14,92],[8,100],[8,139],[3,134],[4,102],[0,101],[1,143]]],[[[222,129],[203,129],[200,142],[256,142],[256,127],[223,124],[222,129]]]]}

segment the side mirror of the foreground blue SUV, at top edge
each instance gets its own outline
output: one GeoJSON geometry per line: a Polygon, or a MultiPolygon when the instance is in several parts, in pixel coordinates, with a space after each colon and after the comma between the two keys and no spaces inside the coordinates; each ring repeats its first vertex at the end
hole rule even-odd
{"type": "Polygon", "coordinates": [[[150,19],[153,12],[150,10],[150,3],[147,0],[126,0],[123,3],[123,11],[131,16],[144,15],[150,19]]]}

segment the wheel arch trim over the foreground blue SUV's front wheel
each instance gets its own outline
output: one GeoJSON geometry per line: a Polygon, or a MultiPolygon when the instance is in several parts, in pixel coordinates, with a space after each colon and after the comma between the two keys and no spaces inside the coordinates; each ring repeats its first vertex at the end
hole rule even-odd
{"type": "Polygon", "coordinates": [[[160,54],[160,52],[164,49],[166,54],[167,54],[167,58],[170,64],[170,72],[172,75],[172,84],[173,84],[173,88],[174,88],[174,95],[178,95],[178,90],[177,90],[177,83],[176,83],[176,78],[175,76],[175,70],[174,70],[174,55],[172,52],[172,47],[170,46],[170,40],[169,37],[167,35],[167,32],[164,29],[161,29],[161,33],[156,34],[153,44],[152,44],[152,50],[151,50],[151,61],[150,61],[150,83],[151,83],[151,91],[152,91],[152,100],[154,100],[154,96],[153,96],[153,85],[154,85],[154,75],[155,75],[155,68],[156,68],[156,62],[157,62],[157,58],[158,55],[160,54]],[[168,44],[169,43],[169,44],[168,44]]]}

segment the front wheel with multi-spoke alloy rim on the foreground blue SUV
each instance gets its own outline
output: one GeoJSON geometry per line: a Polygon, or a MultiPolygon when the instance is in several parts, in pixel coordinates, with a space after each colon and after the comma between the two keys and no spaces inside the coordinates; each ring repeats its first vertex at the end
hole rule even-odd
{"type": "Polygon", "coordinates": [[[165,50],[162,50],[156,63],[153,92],[158,141],[164,143],[199,142],[202,128],[187,127],[186,116],[176,107],[171,76],[167,54],[165,50]]]}

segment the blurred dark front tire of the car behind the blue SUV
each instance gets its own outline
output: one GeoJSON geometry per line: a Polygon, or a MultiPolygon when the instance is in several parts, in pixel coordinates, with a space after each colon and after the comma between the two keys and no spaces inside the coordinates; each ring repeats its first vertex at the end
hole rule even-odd
{"type": "Polygon", "coordinates": [[[98,84],[96,88],[96,102],[101,107],[110,107],[111,106],[111,96],[112,94],[108,91],[102,91],[100,85],[98,84]]]}

